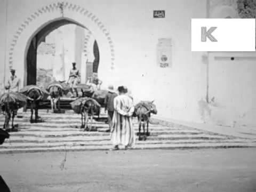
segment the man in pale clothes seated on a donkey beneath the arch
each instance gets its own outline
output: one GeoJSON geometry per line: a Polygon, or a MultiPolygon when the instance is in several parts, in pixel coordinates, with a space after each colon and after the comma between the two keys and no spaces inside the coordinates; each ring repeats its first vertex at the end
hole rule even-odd
{"type": "Polygon", "coordinates": [[[69,79],[68,79],[68,84],[70,86],[70,92],[72,94],[72,97],[74,97],[74,91],[76,92],[76,97],[78,97],[77,93],[77,84],[80,82],[80,72],[76,68],[76,63],[72,63],[73,68],[70,69],[69,71],[69,79]]]}

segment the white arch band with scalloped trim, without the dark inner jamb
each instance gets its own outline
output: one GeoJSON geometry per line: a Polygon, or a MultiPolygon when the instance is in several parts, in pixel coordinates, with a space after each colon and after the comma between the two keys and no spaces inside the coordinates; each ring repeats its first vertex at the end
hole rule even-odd
{"type": "MultiPolygon", "coordinates": [[[[26,63],[28,46],[34,35],[49,23],[61,19],[79,23],[79,25],[91,31],[92,35],[97,38],[101,50],[102,65],[100,64],[99,75],[103,80],[113,76],[109,73],[113,73],[114,70],[115,52],[109,31],[92,12],[70,2],[52,3],[43,6],[21,23],[15,31],[9,47],[9,68],[17,68],[21,61],[26,63]]],[[[21,79],[24,79],[22,71],[17,71],[17,74],[21,79]]]]}

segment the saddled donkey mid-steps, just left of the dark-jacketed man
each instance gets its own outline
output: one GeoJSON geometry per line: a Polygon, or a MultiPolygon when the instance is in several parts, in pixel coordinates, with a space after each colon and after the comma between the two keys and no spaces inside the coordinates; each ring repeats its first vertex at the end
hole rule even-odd
{"type": "Polygon", "coordinates": [[[86,99],[81,103],[81,128],[84,128],[84,131],[92,130],[92,121],[93,116],[100,114],[100,104],[94,99],[86,99]],[[88,126],[88,121],[90,118],[90,125],[88,126]]]}

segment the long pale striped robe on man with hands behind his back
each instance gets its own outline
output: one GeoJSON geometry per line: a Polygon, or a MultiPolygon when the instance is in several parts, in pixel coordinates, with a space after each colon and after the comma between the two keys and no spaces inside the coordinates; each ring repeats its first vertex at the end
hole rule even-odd
{"type": "Polygon", "coordinates": [[[134,111],[133,101],[127,95],[118,95],[114,99],[113,125],[111,127],[111,141],[113,145],[133,147],[135,133],[132,124],[134,111]]]}

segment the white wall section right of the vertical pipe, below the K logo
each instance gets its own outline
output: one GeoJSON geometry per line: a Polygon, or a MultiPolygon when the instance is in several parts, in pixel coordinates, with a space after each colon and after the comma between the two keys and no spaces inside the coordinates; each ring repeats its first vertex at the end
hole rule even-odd
{"type": "Polygon", "coordinates": [[[211,121],[226,126],[253,126],[256,115],[256,53],[210,53],[211,121]],[[234,57],[234,60],[230,60],[234,57]]]}

